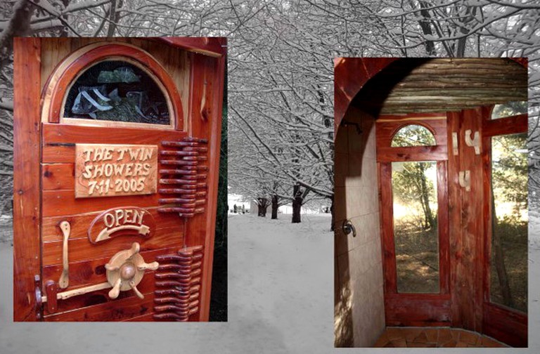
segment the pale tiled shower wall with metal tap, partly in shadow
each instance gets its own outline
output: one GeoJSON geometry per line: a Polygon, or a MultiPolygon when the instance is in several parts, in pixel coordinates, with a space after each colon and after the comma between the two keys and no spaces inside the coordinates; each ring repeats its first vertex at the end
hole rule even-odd
{"type": "Polygon", "coordinates": [[[385,329],[375,122],[349,109],[335,141],[335,346],[373,346],[385,329]],[[350,219],[356,237],[342,232],[350,219]]]}

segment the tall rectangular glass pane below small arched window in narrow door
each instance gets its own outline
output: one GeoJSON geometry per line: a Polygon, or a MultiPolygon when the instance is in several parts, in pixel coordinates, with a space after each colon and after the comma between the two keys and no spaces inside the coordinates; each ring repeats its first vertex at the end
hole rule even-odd
{"type": "Polygon", "coordinates": [[[397,291],[439,293],[437,162],[392,162],[397,291]]]}

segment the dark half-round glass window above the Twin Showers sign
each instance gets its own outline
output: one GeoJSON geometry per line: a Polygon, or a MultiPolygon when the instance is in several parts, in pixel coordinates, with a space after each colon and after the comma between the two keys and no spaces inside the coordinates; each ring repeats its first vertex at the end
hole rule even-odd
{"type": "Polygon", "coordinates": [[[167,100],[143,70],[120,60],[89,67],[65,100],[64,117],[170,124],[167,100]]]}

